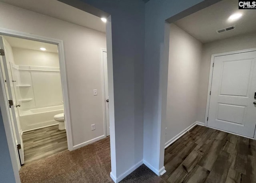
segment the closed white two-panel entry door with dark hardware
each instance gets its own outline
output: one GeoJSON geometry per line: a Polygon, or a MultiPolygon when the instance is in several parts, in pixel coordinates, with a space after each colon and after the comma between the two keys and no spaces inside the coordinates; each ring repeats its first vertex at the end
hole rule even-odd
{"type": "Polygon", "coordinates": [[[208,126],[254,137],[256,51],[214,57],[208,126]]]}

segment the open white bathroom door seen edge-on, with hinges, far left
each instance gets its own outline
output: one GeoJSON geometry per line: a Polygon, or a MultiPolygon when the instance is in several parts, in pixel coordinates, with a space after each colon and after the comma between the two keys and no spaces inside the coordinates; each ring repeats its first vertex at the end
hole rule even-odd
{"type": "MultiPolygon", "coordinates": [[[[7,58],[10,58],[10,57],[8,57],[8,50],[5,49],[4,41],[1,36],[0,36],[0,49],[2,49],[4,51],[4,53],[2,53],[0,56],[0,57],[2,57],[2,59],[0,59],[0,61],[1,61],[0,66],[1,66],[2,76],[3,76],[2,79],[5,80],[3,82],[3,83],[5,83],[5,92],[6,92],[5,94],[6,94],[6,98],[9,101],[12,101],[12,104],[13,104],[13,105],[10,105],[10,108],[8,110],[9,116],[10,116],[10,124],[12,126],[14,140],[16,141],[20,164],[23,165],[24,164],[24,149],[23,149],[20,126],[19,126],[17,118],[16,118],[16,114],[18,115],[18,110],[16,109],[17,102],[16,102],[16,97],[15,97],[15,92],[14,92],[15,80],[12,79],[11,64],[7,61],[7,58]]],[[[8,100],[5,102],[7,102],[9,105],[8,100]]],[[[10,104],[11,104],[11,102],[10,102],[10,104]]]]}

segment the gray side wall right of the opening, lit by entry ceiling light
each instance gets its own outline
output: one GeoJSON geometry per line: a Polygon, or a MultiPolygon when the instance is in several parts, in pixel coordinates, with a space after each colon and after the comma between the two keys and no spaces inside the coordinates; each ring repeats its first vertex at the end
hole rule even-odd
{"type": "Polygon", "coordinates": [[[166,145],[196,121],[202,43],[170,24],[166,145]]]}

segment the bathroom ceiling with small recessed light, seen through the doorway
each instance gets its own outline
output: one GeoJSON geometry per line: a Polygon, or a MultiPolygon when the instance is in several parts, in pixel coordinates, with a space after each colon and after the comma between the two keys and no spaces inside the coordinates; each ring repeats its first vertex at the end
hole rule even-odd
{"type": "Polygon", "coordinates": [[[44,47],[48,52],[58,53],[58,46],[54,44],[10,36],[4,36],[4,38],[8,41],[8,43],[10,43],[11,47],[32,49],[38,51],[41,51],[40,48],[44,47]]]}

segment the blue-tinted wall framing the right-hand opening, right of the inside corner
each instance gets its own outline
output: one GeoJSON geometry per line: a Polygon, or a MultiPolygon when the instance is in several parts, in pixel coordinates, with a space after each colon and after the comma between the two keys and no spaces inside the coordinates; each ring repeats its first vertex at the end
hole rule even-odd
{"type": "Polygon", "coordinates": [[[169,51],[169,43],[165,41],[169,41],[170,31],[165,20],[174,22],[218,1],[150,0],[146,3],[143,157],[155,172],[161,171],[164,165],[169,51]]]}

